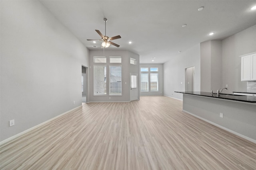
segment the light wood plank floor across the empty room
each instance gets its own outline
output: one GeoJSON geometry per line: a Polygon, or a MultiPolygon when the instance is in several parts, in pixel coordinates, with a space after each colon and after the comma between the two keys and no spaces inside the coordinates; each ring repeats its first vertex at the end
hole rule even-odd
{"type": "Polygon", "coordinates": [[[0,147],[0,169],[256,169],[256,144],[182,112],[182,101],[141,96],[90,103],[0,147]]]}

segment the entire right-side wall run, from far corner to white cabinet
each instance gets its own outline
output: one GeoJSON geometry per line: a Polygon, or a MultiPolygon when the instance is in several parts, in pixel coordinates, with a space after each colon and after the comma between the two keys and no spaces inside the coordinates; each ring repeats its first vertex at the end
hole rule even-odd
{"type": "Polygon", "coordinates": [[[240,55],[256,51],[256,25],[222,41],[206,41],[172,56],[164,63],[164,96],[182,99],[184,68],[195,66],[195,91],[217,90],[226,87],[225,93],[246,92],[247,82],[241,82],[240,55]],[[199,85],[198,85],[199,84],[199,85]]]}

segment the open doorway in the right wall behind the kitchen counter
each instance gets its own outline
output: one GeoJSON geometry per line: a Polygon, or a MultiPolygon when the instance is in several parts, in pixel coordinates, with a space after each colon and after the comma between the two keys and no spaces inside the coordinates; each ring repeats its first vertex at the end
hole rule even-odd
{"type": "Polygon", "coordinates": [[[194,91],[195,66],[185,68],[185,91],[194,91]]]}

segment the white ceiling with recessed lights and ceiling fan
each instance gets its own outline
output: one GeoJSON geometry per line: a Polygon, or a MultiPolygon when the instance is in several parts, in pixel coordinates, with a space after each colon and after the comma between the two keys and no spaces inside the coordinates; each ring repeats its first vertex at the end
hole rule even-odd
{"type": "Polygon", "coordinates": [[[256,0],[41,0],[90,50],[103,50],[95,29],[120,35],[106,50],[129,50],[140,63],[165,63],[178,51],[221,40],[256,24],[256,0]],[[204,6],[204,10],[198,8],[204,6]],[[186,27],[182,27],[187,24],[186,27]],[[215,32],[214,35],[208,35],[215,32]],[[132,41],[132,44],[128,44],[132,41]],[[96,45],[98,48],[93,48],[96,45]],[[152,62],[152,57],[156,57],[152,62]]]}

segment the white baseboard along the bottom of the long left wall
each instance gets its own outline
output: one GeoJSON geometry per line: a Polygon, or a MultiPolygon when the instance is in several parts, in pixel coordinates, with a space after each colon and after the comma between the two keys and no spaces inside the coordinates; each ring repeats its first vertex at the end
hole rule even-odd
{"type": "Polygon", "coordinates": [[[30,131],[32,131],[32,130],[34,130],[34,129],[36,129],[36,128],[42,126],[42,125],[45,125],[46,123],[48,123],[48,122],[50,122],[50,121],[53,121],[54,119],[57,119],[58,117],[60,117],[60,116],[62,116],[62,115],[65,115],[65,114],[67,114],[67,113],[70,113],[71,111],[74,111],[75,109],[78,109],[79,107],[82,107],[82,105],[80,105],[80,106],[78,106],[78,107],[75,107],[74,109],[71,109],[71,110],[69,110],[69,111],[66,111],[65,113],[62,113],[62,114],[60,114],[60,115],[58,115],[58,116],[56,116],[56,117],[53,117],[52,119],[49,119],[49,120],[47,120],[47,121],[44,121],[43,123],[40,123],[40,124],[38,124],[38,125],[36,125],[36,126],[34,126],[34,127],[31,127],[31,128],[29,128],[29,129],[27,129],[26,131],[20,132],[20,133],[14,135],[14,136],[12,136],[12,137],[9,137],[9,138],[5,139],[4,141],[1,141],[1,142],[0,142],[0,146],[2,146],[2,145],[4,145],[4,144],[6,144],[6,143],[12,141],[13,139],[16,139],[17,137],[22,136],[22,135],[24,135],[25,133],[28,133],[28,132],[30,132],[30,131]]]}

